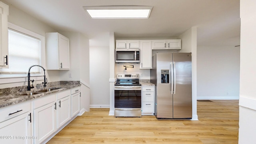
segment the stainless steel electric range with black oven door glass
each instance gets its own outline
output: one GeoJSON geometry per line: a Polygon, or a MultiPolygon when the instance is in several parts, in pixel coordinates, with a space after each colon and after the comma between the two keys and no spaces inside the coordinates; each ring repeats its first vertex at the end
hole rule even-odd
{"type": "Polygon", "coordinates": [[[117,74],[114,87],[114,116],[141,116],[141,84],[139,74],[117,74]]]}

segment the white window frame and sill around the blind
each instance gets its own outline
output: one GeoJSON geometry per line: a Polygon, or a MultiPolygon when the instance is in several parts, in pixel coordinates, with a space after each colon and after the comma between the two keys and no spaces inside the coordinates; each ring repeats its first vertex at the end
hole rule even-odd
{"type": "MultiPolygon", "coordinates": [[[[46,69],[45,37],[40,34],[36,34],[35,32],[32,32],[30,30],[27,30],[25,28],[22,28],[20,26],[17,26],[15,24],[12,24],[10,22],[8,22],[8,28],[33,36],[41,40],[41,66],[43,66],[46,69]]],[[[32,76],[32,78],[30,79],[34,79],[35,81],[44,80],[43,75],[44,75],[44,70],[42,69],[40,73],[31,73],[30,76],[32,76]]],[[[28,72],[21,73],[21,74],[6,74],[6,73],[0,74],[0,84],[10,84],[10,83],[27,82],[27,81],[28,81],[28,72]]]]}

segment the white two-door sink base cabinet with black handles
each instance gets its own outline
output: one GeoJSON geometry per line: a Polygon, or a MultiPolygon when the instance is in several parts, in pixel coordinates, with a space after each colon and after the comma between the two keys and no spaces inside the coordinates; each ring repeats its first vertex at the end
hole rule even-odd
{"type": "Polygon", "coordinates": [[[71,119],[71,91],[65,90],[33,101],[35,144],[44,142],[71,119]]]}

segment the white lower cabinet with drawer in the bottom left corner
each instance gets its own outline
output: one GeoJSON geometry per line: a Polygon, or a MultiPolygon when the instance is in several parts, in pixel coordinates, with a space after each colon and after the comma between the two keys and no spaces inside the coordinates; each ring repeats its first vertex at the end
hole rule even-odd
{"type": "Polygon", "coordinates": [[[30,102],[1,108],[0,115],[0,144],[32,143],[30,102]]]}

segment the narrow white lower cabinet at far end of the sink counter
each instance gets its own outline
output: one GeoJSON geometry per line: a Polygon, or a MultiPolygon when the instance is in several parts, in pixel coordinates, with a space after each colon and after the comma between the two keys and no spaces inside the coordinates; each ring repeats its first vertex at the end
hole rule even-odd
{"type": "Polygon", "coordinates": [[[80,112],[80,96],[80,86],[71,90],[71,117],[75,116],[76,114],[78,114],[78,112],[80,112]]]}

